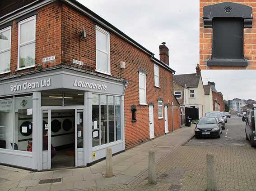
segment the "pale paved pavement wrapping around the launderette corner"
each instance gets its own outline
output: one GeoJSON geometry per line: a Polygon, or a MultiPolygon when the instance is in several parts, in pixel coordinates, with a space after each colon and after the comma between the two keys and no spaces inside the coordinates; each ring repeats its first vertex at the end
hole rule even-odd
{"type": "MultiPolygon", "coordinates": [[[[71,191],[71,190],[163,190],[147,185],[148,152],[155,151],[157,168],[194,136],[194,125],[145,142],[112,158],[114,177],[105,178],[106,161],[90,167],[33,172],[0,166],[0,191],[71,191]],[[39,184],[40,180],[61,178],[61,182],[39,184]],[[149,187],[145,187],[145,185],[149,187]]],[[[178,172],[177,172],[178,173],[178,172]]],[[[182,175],[182,173],[180,173],[182,175]]],[[[181,178],[173,174],[174,179],[181,178]]],[[[164,176],[163,176],[164,177],[164,176]]],[[[159,178],[158,178],[159,179],[159,178]]]]}

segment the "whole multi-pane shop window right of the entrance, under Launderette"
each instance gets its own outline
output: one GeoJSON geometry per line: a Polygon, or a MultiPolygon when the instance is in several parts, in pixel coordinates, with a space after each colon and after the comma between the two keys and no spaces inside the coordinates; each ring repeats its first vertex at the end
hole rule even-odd
{"type": "Polygon", "coordinates": [[[93,147],[121,140],[120,99],[119,96],[93,94],[93,147]]]}

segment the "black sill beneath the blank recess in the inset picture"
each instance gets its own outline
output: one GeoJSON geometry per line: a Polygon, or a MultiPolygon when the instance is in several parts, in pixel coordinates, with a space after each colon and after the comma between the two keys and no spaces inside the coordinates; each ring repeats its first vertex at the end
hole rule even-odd
{"type": "Polygon", "coordinates": [[[207,61],[207,66],[223,66],[223,67],[247,67],[246,59],[224,59],[213,58],[207,61]]]}

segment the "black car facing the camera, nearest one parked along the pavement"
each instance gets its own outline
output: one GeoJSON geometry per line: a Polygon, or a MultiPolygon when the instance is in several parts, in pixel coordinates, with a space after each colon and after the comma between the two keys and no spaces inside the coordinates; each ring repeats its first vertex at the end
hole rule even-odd
{"type": "Polygon", "coordinates": [[[217,137],[222,133],[218,117],[201,117],[195,127],[195,138],[217,137]]]}

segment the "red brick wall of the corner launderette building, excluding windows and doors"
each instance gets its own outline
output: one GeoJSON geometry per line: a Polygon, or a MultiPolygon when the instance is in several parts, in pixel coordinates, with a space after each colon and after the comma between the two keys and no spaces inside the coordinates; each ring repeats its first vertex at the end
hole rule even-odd
{"type": "MultiPolygon", "coordinates": [[[[66,4],[54,2],[38,9],[36,20],[36,67],[16,72],[18,28],[15,21],[12,29],[11,73],[36,71],[42,64],[42,58],[56,56],[56,60],[42,64],[43,69],[57,65],[66,65],[86,71],[96,72],[95,21],[76,11],[66,4]],[[87,34],[92,37],[83,39],[79,32],[85,27],[87,34]],[[84,66],[72,64],[72,59],[84,62],[84,66]]],[[[130,84],[125,94],[125,136],[126,148],[134,147],[149,139],[149,108],[139,104],[139,75],[138,68],[147,72],[146,89],[147,102],[154,102],[154,133],[155,136],[164,134],[164,119],[158,119],[158,98],[163,98],[163,105],[168,107],[168,129],[172,129],[173,101],[172,73],[159,66],[160,88],[154,87],[154,62],[150,56],[135,46],[127,43],[116,34],[110,32],[110,60],[113,78],[129,80],[130,84]],[[126,69],[120,68],[120,61],[126,62],[126,69]],[[131,122],[130,106],[136,105],[137,122],[131,122]]],[[[164,108],[163,108],[164,116],[164,108]]]]}

